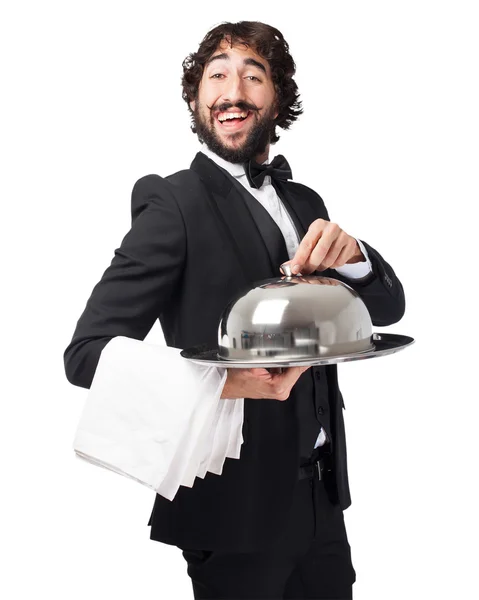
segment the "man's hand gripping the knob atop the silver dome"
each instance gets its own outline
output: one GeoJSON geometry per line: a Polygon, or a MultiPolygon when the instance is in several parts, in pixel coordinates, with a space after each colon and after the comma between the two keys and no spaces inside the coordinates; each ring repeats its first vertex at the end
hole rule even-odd
{"type": "Polygon", "coordinates": [[[336,269],[345,264],[366,261],[355,238],[336,223],[316,219],[301,240],[294,258],[289,261],[293,274],[309,275],[313,271],[336,269]]]}

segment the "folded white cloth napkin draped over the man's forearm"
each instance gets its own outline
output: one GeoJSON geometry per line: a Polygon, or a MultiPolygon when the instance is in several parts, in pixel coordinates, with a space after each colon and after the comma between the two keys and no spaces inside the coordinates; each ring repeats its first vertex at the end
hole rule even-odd
{"type": "Polygon", "coordinates": [[[221,399],[226,369],[117,336],[103,349],[78,423],[76,456],[173,500],[240,457],[244,399],[221,399]]]}

